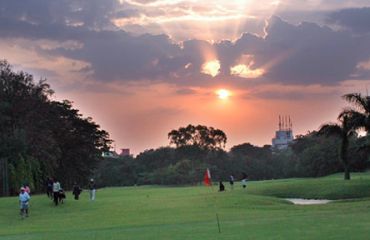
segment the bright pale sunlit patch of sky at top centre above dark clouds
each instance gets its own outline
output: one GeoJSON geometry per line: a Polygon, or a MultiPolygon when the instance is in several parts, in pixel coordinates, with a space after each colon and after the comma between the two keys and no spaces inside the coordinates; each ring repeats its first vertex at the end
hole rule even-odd
{"type": "Polygon", "coordinates": [[[259,21],[273,15],[283,0],[117,0],[137,14],[116,16],[111,22],[124,30],[165,33],[174,39],[236,40],[249,26],[263,34],[259,21]],[[141,28],[138,28],[140,26],[141,28]]]}

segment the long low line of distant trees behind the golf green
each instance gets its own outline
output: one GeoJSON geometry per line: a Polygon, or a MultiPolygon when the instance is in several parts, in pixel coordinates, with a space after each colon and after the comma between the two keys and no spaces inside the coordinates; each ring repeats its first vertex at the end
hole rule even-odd
{"type": "MultiPolygon", "coordinates": [[[[348,140],[348,169],[365,171],[369,167],[366,151],[368,137],[348,140]]],[[[320,177],[343,172],[341,138],[321,135],[319,131],[297,136],[286,150],[272,151],[243,143],[229,151],[200,145],[161,147],[146,150],[136,157],[107,158],[95,170],[100,186],[196,185],[201,184],[206,168],[213,181],[236,180],[247,174],[250,180],[291,177],[320,177]]]]}

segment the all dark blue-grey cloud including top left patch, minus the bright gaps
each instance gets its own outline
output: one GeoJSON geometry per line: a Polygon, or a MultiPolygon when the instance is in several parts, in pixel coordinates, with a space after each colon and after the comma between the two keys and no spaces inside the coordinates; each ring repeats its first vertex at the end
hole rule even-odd
{"type": "MultiPolygon", "coordinates": [[[[134,10],[125,12],[117,4],[115,0],[104,1],[104,4],[99,0],[35,0],[23,5],[17,1],[1,1],[0,36],[77,41],[81,47],[40,48],[38,51],[86,62],[89,67],[81,72],[102,82],[153,80],[185,86],[266,82],[333,85],[353,76],[369,77],[368,71],[359,72],[357,68],[358,63],[370,59],[370,39],[366,35],[334,31],[315,23],[293,25],[272,17],[265,37],[245,33],[235,42],[210,43],[194,39],[180,44],[166,35],[135,36],[114,29],[110,23],[112,16],[136,14],[134,10]],[[11,11],[14,13],[10,14],[11,11]],[[220,74],[215,78],[201,73],[209,53],[221,63],[220,74]],[[230,67],[240,64],[246,55],[253,58],[251,68],[263,68],[266,73],[256,79],[231,76],[230,67]]],[[[351,13],[349,15],[354,15],[351,13]]],[[[340,16],[331,18],[337,22],[349,18],[340,16]]],[[[364,26],[361,29],[365,29],[370,21],[361,19],[367,20],[362,17],[353,23],[361,22],[364,26]]]]}

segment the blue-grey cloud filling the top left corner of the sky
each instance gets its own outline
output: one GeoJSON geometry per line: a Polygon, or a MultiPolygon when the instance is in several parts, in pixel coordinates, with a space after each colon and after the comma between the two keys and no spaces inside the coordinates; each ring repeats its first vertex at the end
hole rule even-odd
{"type": "Polygon", "coordinates": [[[0,1],[1,20],[13,19],[32,25],[83,24],[92,29],[112,27],[110,18],[120,5],[116,0],[0,1]]]}

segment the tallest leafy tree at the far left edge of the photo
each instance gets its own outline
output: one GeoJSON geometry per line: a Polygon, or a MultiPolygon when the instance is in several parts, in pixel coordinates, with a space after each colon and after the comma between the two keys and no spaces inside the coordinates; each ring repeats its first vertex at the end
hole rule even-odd
{"type": "Polygon", "coordinates": [[[44,133],[43,111],[52,93],[45,80],[35,83],[32,75],[16,73],[7,61],[0,61],[0,158],[5,168],[4,195],[14,192],[25,181],[35,189],[40,187],[41,165],[32,153],[38,152],[35,148],[40,145],[45,149],[54,146],[46,137],[39,138],[44,141],[35,140],[44,133]],[[22,180],[15,182],[15,174],[22,180]]]}

